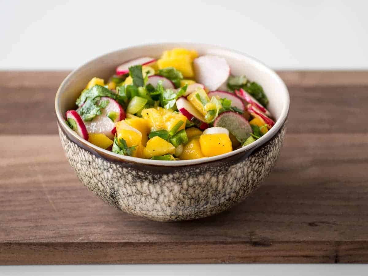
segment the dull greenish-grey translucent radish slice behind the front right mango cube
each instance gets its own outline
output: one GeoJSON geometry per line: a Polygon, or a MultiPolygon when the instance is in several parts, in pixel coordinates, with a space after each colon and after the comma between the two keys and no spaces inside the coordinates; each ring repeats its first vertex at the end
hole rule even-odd
{"type": "Polygon", "coordinates": [[[241,143],[244,143],[253,132],[247,119],[242,115],[231,111],[221,113],[219,117],[216,118],[213,125],[215,127],[226,128],[241,143]]]}

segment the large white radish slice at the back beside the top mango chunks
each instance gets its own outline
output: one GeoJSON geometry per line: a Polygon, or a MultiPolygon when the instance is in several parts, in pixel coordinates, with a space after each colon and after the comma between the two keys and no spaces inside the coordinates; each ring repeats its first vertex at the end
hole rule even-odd
{"type": "Polygon", "coordinates": [[[193,66],[197,82],[212,91],[223,85],[230,75],[230,67],[222,57],[197,57],[193,61],[193,66]]]}

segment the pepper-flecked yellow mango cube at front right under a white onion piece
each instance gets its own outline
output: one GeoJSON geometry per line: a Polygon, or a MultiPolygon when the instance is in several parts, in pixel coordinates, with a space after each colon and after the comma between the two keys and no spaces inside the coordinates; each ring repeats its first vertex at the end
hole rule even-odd
{"type": "Polygon", "coordinates": [[[199,143],[201,144],[202,153],[208,157],[231,152],[233,150],[230,138],[225,133],[202,134],[199,137],[199,143]]]}

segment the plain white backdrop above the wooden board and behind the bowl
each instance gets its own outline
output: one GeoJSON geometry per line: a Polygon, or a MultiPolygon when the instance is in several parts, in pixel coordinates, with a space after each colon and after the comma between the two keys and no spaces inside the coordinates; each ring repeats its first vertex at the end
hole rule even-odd
{"type": "Polygon", "coordinates": [[[366,1],[0,0],[0,69],[71,69],[106,52],[213,43],[276,69],[368,68],[366,1]]]}

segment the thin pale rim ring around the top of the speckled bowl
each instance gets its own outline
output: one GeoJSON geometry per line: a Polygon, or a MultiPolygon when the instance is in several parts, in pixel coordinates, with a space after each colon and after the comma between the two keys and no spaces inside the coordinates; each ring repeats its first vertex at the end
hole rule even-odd
{"type": "Polygon", "coordinates": [[[81,142],[82,144],[84,144],[87,148],[90,147],[92,149],[94,149],[95,151],[100,151],[105,153],[106,155],[110,155],[112,157],[114,157],[114,159],[117,160],[117,162],[129,162],[129,163],[135,163],[135,164],[142,164],[142,165],[151,165],[151,166],[164,166],[164,167],[179,167],[179,166],[187,166],[187,165],[195,165],[195,164],[201,164],[201,163],[209,163],[209,162],[213,162],[213,161],[217,161],[220,159],[226,159],[230,156],[233,155],[237,155],[238,153],[245,153],[245,152],[250,152],[250,151],[254,151],[256,148],[259,148],[260,146],[262,146],[263,144],[265,144],[267,141],[269,141],[272,137],[274,137],[277,132],[281,129],[281,127],[283,126],[284,122],[286,121],[287,115],[289,113],[289,106],[290,106],[290,95],[289,95],[289,91],[287,89],[287,86],[285,85],[284,81],[280,78],[280,76],[271,68],[269,68],[268,66],[266,66],[263,62],[259,61],[258,59],[255,59],[254,57],[245,54],[241,51],[238,50],[233,50],[233,49],[229,49],[227,47],[221,47],[221,46],[217,46],[217,45],[212,45],[212,44],[206,44],[206,43],[195,43],[195,42],[161,42],[161,43],[146,43],[146,44],[141,44],[141,45],[135,45],[135,46],[130,46],[130,47],[125,47],[122,49],[118,49],[109,53],[105,53],[102,54],[98,57],[95,57],[89,61],[87,61],[86,63],[83,63],[82,65],[78,66],[77,68],[75,68],[74,70],[72,70],[67,77],[63,80],[63,82],[61,82],[59,88],[57,89],[56,92],[56,96],[55,96],[55,111],[56,111],[56,116],[57,119],[59,121],[59,125],[60,127],[62,127],[64,129],[64,131],[67,131],[68,134],[72,135],[75,139],[77,139],[79,142],[81,142]],[[144,158],[138,158],[138,157],[132,157],[132,156],[126,156],[126,155],[120,155],[111,151],[107,151],[106,149],[100,148],[94,144],[92,144],[91,142],[88,142],[87,140],[83,139],[82,137],[80,137],[75,131],[72,131],[71,128],[66,128],[66,125],[64,124],[64,116],[61,112],[61,108],[60,108],[60,104],[59,104],[59,99],[60,99],[60,95],[62,94],[63,88],[64,86],[68,83],[68,81],[74,77],[74,74],[76,72],[78,72],[80,69],[82,69],[85,66],[88,66],[88,64],[93,63],[95,60],[100,59],[102,57],[108,56],[110,54],[114,54],[114,53],[119,53],[119,52],[123,52],[125,50],[133,50],[134,48],[137,47],[149,47],[149,46],[165,46],[168,44],[177,44],[177,45],[181,45],[182,47],[213,47],[215,49],[218,50],[224,50],[224,51],[228,51],[231,53],[236,53],[236,54],[240,54],[242,56],[247,57],[248,59],[252,60],[253,62],[255,62],[258,66],[261,66],[262,69],[268,73],[268,75],[270,75],[270,77],[276,79],[277,82],[279,82],[280,86],[283,88],[283,92],[284,92],[284,96],[285,96],[285,105],[284,108],[282,109],[279,119],[275,122],[275,125],[273,125],[273,127],[265,134],[263,135],[261,138],[257,139],[255,142],[252,142],[251,144],[236,149],[235,151],[231,151],[228,153],[224,153],[221,155],[216,155],[216,156],[212,156],[212,157],[206,157],[206,158],[199,158],[199,159],[191,159],[191,160],[176,160],[176,161],[165,161],[165,160],[151,160],[151,159],[144,159],[144,158]]]}

